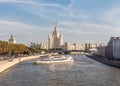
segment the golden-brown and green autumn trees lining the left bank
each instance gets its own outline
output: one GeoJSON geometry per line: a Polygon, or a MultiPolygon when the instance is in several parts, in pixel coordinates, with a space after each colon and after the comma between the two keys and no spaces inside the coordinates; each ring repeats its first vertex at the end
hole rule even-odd
{"type": "Polygon", "coordinates": [[[0,55],[18,55],[18,54],[31,54],[36,52],[24,44],[10,44],[6,41],[0,41],[0,55]]]}

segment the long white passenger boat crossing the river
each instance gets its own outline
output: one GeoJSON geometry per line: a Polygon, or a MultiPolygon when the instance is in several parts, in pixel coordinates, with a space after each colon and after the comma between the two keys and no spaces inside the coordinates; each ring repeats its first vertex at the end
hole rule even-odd
{"type": "Polygon", "coordinates": [[[45,57],[44,59],[39,59],[35,61],[35,64],[57,64],[57,63],[71,63],[74,62],[71,56],[51,56],[45,57]]]}

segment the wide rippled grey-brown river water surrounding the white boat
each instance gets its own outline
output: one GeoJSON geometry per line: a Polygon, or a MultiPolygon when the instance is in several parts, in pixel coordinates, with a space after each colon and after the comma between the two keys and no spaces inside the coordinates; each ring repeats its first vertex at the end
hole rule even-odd
{"type": "Polygon", "coordinates": [[[35,65],[21,62],[0,74],[0,86],[120,86],[120,69],[73,55],[75,62],[35,65]]]}

